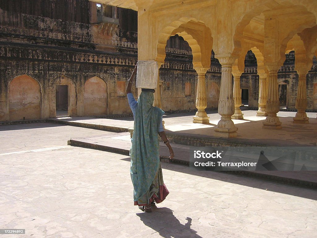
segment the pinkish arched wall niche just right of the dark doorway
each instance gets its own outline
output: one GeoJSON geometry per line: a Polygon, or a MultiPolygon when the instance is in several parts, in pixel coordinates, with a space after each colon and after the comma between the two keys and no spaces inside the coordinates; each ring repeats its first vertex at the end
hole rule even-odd
{"type": "Polygon", "coordinates": [[[107,114],[107,83],[94,76],[84,85],[84,116],[107,114]]]}

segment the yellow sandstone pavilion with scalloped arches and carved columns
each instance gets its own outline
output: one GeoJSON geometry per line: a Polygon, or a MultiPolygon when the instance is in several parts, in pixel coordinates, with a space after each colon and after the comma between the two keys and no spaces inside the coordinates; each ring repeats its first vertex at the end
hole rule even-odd
{"type": "MultiPolygon", "coordinates": [[[[266,116],[263,128],[280,129],[277,72],[285,53],[295,51],[299,75],[294,123],[308,123],[306,74],[317,55],[316,0],[99,0],[95,2],[138,11],[138,60],[165,60],[166,41],[182,36],[193,54],[198,75],[194,123],[208,123],[205,74],[211,50],[222,65],[216,135],[237,136],[231,119],[243,119],[240,110],[240,76],[248,50],[256,56],[259,75],[259,109],[266,116]],[[232,75],[234,83],[232,86],[232,75]]],[[[160,105],[156,94],[156,106],[160,105]]]]}

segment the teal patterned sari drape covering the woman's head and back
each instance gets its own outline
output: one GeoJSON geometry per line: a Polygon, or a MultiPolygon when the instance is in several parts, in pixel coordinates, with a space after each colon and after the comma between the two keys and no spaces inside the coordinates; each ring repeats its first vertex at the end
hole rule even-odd
{"type": "Polygon", "coordinates": [[[134,115],[131,157],[133,199],[144,196],[160,168],[158,130],[164,111],[153,107],[152,92],[142,91],[134,115]]]}

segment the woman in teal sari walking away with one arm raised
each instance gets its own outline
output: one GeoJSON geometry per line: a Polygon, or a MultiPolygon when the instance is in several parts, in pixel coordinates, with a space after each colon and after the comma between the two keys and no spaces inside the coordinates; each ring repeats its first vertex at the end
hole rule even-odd
{"type": "Polygon", "coordinates": [[[134,117],[130,172],[134,205],[138,205],[142,211],[152,212],[151,203],[162,202],[169,193],[163,182],[160,166],[158,134],[169,149],[170,159],[174,157],[174,152],[162,125],[164,111],[152,106],[155,90],[142,89],[138,101],[135,101],[131,93],[137,68],[138,64],[135,65],[126,86],[126,94],[134,117]]]}

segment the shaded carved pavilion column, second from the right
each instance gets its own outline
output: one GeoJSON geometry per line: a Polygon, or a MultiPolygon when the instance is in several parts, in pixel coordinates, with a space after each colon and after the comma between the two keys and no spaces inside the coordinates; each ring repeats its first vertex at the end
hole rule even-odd
{"type": "Polygon", "coordinates": [[[268,98],[266,102],[266,112],[268,116],[263,122],[263,128],[281,129],[281,122],[276,114],[280,111],[280,100],[278,95],[277,71],[278,66],[267,65],[268,68],[268,98]]]}

